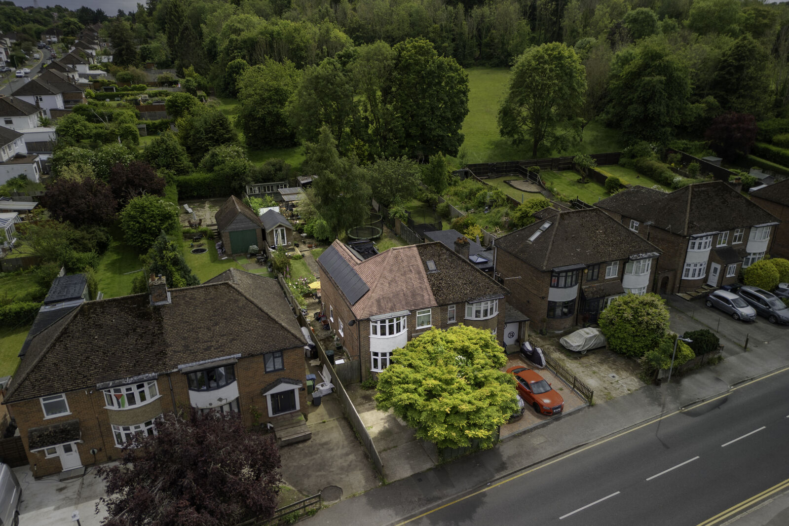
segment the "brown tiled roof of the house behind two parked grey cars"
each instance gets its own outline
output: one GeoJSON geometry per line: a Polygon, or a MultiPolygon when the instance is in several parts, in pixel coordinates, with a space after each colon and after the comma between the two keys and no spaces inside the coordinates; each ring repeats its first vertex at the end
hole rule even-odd
{"type": "Polygon", "coordinates": [[[687,185],[670,193],[634,186],[596,206],[640,222],[651,221],[681,236],[777,221],[723,181],[687,185]]]}

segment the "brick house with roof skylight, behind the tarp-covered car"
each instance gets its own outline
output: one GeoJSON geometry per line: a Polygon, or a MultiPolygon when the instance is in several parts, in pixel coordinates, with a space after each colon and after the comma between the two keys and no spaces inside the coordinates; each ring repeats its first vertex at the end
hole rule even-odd
{"type": "Polygon", "coordinates": [[[660,249],[596,208],[543,211],[495,240],[496,277],[510,303],[546,330],[595,323],[624,293],[653,290],[660,249]]]}

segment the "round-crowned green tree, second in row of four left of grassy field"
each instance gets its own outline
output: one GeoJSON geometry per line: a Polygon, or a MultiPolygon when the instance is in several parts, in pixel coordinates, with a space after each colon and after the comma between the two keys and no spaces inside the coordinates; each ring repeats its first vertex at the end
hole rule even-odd
{"type": "Polygon", "coordinates": [[[305,69],[287,114],[300,140],[315,142],[326,125],[338,144],[344,144],[356,105],[351,79],[336,58],[324,58],[319,65],[305,69]]]}

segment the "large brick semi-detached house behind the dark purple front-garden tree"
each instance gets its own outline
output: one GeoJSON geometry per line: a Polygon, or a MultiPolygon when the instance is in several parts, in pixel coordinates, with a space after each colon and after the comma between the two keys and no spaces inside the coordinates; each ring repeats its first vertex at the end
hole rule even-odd
{"type": "Polygon", "coordinates": [[[36,334],[4,403],[36,477],[112,461],[134,433],[193,405],[252,427],[292,419],[305,339],[271,278],[227,270],[203,285],[86,301],[36,334]]]}

